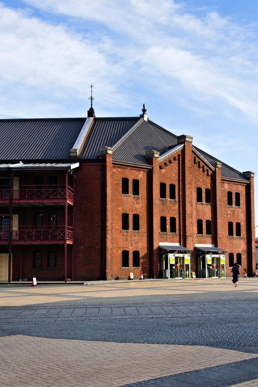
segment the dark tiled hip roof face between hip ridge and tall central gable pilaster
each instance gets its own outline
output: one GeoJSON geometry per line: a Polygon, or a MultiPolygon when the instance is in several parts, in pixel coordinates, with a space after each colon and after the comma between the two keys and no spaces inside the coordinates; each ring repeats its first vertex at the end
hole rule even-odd
{"type": "Polygon", "coordinates": [[[160,154],[177,144],[177,136],[152,121],[142,121],[114,146],[113,159],[127,163],[148,164],[145,152],[153,149],[160,154]]]}

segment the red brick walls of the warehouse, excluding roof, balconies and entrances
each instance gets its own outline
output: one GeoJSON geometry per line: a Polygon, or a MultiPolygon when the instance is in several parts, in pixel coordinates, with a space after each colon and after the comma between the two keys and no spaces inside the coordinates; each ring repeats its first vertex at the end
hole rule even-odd
{"type": "MultiPolygon", "coordinates": [[[[68,184],[74,189],[74,203],[68,203],[67,197],[59,202],[43,200],[39,205],[33,200],[22,203],[13,201],[12,219],[14,216],[18,219],[17,230],[29,226],[35,229],[34,214],[38,213],[42,214],[42,225],[46,226],[46,230],[49,230],[50,213],[54,212],[58,220],[55,232],[49,233],[48,241],[38,239],[32,242],[32,236],[31,240],[27,236],[26,241],[17,243],[14,237],[11,246],[12,279],[31,279],[35,276],[38,280],[64,280],[65,266],[67,278],[71,280],[128,279],[131,271],[135,278],[140,277],[141,271],[145,277],[159,278],[162,277],[161,243],[189,248],[191,272],[197,271],[196,244],[213,245],[225,250],[227,275],[231,272],[229,254],[234,254],[236,262],[236,254],[240,253],[243,271],[253,276],[253,174],[246,172],[248,180],[221,177],[221,163],[210,164],[203,159],[192,147],[191,140],[190,136],[179,136],[178,146],[161,156],[157,151],[147,151],[145,159],[148,165],[114,161],[113,149],[103,147],[99,159],[80,160],[75,176],[66,170],[14,173],[12,178],[19,177],[19,187],[33,186],[35,177],[39,175],[43,176],[42,184],[46,185],[49,177],[55,175],[56,187],[68,184]],[[128,179],[128,193],[122,192],[122,178],[128,179]],[[139,183],[138,194],[133,194],[133,180],[139,183]],[[199,197],[196,196],[197,190],[199,197]],[[232,205],[228,204],[228,192],[232,192],[232,205]],[[235,194],[240,195],[240,205],[234,201],[235,194]],[[128,214],[128,227],[122,227],[122,214],[128,214]],[[133,229],[135,215],[135,219],[139,219],[139,229],[133,229]],[[202,221],[202,232],[200,228],[199,231],[197,229],[198,219],[202,221]],[[233,224],[233,235],[228,235],[229,222],[233,224]],[[55,240],[59,225],[72,229],[73,241],[66,238],[63,241],[55,240]],[[236,235],[239,233],[237,227],[241,228],[241,235],[236,235]],[[207,230],[210,231],[207,233],[207,230]],[[38,251],[41,252],[41,267],[33,267],[34,252],[38,251]],[[56,252],[56,267],[48,267],[49,252],[52,251],[56,252]],[[122,265],[124,251],[124,263],[128,262],[128,265],[122,265]],[[133,261],[133,257],[137,257],[137,254],[140,262],[135,266],[138,261],[137,258],[133,261]]],[[[2,171],[0,177],[7,179],[9,175],[7,171],[2,171]]],[[[14,183],[13,180],[13,188],[17,181],[14,183]]],[[[9,215],[7,202],[2,204],[0,215],[9,215]]],[[[14,221],[12,227],[16,230],[14,221]]],[[[2,240],[0,253],[8,253],[7,240],[2,240]]]]}

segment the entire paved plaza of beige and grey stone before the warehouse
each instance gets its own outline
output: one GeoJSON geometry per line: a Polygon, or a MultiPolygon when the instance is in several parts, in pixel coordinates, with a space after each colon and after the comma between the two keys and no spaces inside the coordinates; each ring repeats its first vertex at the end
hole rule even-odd
{"type": "Polygon", "coordinates": [[[0,287],[3,386],[258,386],[258,278],[0,287]]]}

